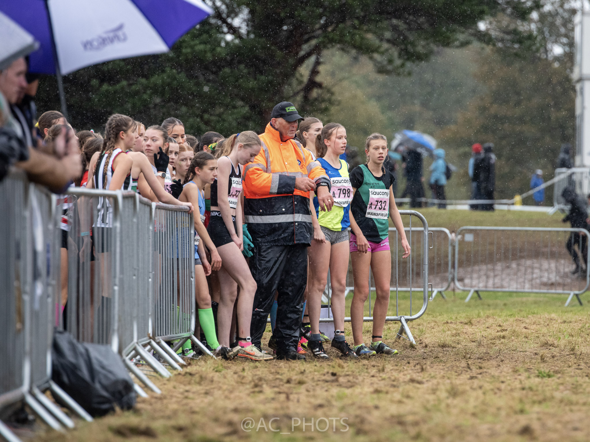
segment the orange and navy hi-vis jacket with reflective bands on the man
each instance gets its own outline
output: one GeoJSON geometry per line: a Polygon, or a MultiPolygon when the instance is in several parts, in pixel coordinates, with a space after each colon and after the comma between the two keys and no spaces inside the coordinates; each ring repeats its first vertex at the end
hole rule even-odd
{"type": "Polygon", "coordinates": [[[312,213],[309,192],[295,189],[297,177],[330,186],[319,161],[297,140],[281,141],[268,123],[260,135],[262,149],[242,174],[244,220],[255,244],[311,244],[312,213]]]}

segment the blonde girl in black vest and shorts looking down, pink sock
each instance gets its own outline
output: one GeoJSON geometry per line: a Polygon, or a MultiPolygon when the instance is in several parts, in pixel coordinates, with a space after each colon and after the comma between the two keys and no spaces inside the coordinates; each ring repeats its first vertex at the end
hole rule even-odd
{"type": "Polygon", "coordinates": [[[256,282],[242,255],[242,168],[251,163],[262,147],[260,138],[253,131],[232,135],[225,140],[218,160],[218,176],[211,184],[211,219],[207,232],[221,255],[222,265],[218,272],[221,298],[217,310],[218,338],[221,344],[230,345],[230,328],[238,285],[240,297],[237,302],[238,345],[232,348],[231,356],[257,361],[272,359],[252,345],[250,321],[256,282]],[[239,228],[238,228],[239,227],[239,228]]]}

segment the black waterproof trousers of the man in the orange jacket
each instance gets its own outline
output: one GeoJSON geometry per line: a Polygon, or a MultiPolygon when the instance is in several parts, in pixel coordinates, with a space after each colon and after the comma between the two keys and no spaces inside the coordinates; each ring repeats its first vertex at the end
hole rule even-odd
{"type": "Polygon", "coordinates": [[[297,351],[303,292],[307,285],[307,246],[255,245],[254,255],[250,258],[250,271],[258,284],[250,324],[252,344],[262,349],[262,335],[277,291],[274,338],[279,356],[297,351]]]}

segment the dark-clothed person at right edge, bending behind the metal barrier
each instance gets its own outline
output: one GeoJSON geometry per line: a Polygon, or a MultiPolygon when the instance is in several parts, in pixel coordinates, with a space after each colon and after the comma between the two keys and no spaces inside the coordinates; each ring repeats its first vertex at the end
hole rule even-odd
{"type": "MultiPolygon", "coordinates": [[[[572,187],[566,187],[563,189],[561,196],[570,206],[568,215],[565,216],[562,221],[564,223],[569,221],[572,228],[579,227],[587,230],[588,224],[586,223],[586,219],[588,218],[588,210],[584,199],[576,194],[572,187]]],[[[572,260],[576,265],[572,274],[579,273],[582,276],[582,270],[584,270],[584,268],[581,265],[580,258],[582,257],[584,259],[585,264],[588,263],[588,244],[586,241],[586,235],[572,232],[569,235],[568,242],[565,244],[565,248],[568,249],[569,254],[572,256],[572,260]],[[576,245],[578,246],[578,250],[575,249],[576,245]],[[580,254],[582,256],[580,256],[580,254]]]]}

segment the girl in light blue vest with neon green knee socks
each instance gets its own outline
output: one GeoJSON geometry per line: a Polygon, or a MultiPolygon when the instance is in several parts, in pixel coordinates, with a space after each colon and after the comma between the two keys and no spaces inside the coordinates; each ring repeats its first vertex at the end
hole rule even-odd
{"type": "Polygon", "coordinates": [[[215,319],[211,308],[211,296],[207,285],[207,276],[211,270],[221,268],[221,257],[217,248],[209,238],[207,229],[203,225],[205,213],[205,198],[201,190],[205,184],[211,184],[217,177],[217,159],[207,152],[198,152],[187,167],[190,170],[184,177],[184,187],[181,200],[195,204],[195,297],[198,307],[199,324],[207,339],[209,347],[214,349],[215,355],[228,358],[230,348],[220,345],[215,334],[215,319]],[[211,264],[205,258],[205,246],[211,255],[211,264]],[[203,259],[201,259],[201,256],[203,259]]]}

